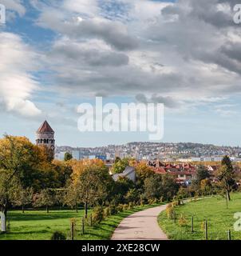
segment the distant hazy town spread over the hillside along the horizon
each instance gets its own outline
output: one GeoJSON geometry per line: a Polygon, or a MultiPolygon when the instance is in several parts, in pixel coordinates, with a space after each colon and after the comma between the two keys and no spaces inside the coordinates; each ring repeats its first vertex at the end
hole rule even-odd
{"type": "Polygon", "coordinates": [[[168,143],[168,142],[130,142],[121,146],[109,145],[101,147],[57,146],[55,158],[64,159],[65,152],[73,154],[77,160],[84,158],[101,158],[114,160],[117,157],[132,157],[137,160],[156,160],[163,162],[219,162],[224,155],[231,161],[241,162],[241,147],[214,146],[200,143],[168,143]]]}

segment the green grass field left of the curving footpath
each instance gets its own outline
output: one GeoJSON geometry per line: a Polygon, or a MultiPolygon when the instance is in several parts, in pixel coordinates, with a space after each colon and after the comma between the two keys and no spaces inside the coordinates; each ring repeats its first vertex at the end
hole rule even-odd
{"type": "Polygon", "coordinates": [[[81,219],[84,210],[76,213],[74,210],[13,210],[8,214],[10,219],[10,232],[0,234],[0,240],[49,240],[54,231],[59,230],[69,236],[70,219],[76,219],[77,232],[75,239],[80,240],[108,240],[121,220],[139,210],[152,206],[140,206],[133,210],[110,216],[105,221],[93,227],[86,227],[85,234],[81,234],[81,219]]]}

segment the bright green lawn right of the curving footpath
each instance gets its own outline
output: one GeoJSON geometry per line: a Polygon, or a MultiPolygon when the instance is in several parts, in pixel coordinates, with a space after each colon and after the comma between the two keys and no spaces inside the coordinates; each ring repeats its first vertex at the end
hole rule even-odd
{"type": "Polygon", "coordinates": [[[231,230],[231,239],[241,239],[241,231],[234,230],[236,212],[241,212],[241,194],[231,194],[231,202],[226,209],[226,200],[220,196],[203,198],[176,206],[176,217],[183,215],[187,221],[181,226],[167,218],[166,212],[159,215],[158,222],[168,238],[172,240],[203,240],[203,221],[207,219],[208,240],[227,240],[227,230],[231,230]],[[192,216],[194,217],[194,232],[191,232],[192,216]]]}

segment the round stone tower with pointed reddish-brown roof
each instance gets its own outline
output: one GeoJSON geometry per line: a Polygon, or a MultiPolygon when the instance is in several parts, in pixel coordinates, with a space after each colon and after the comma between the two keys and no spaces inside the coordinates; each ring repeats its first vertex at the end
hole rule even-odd
{"type": "Polygon", "coordinates": [[[46,146],[49,150],[53,150],[55,148],[55,140],[54,140],[54,131],[49,126],[47,121],[43,122],[41,126],[38,128],[37,132],[36,144],[38,146],[46,146]]]}

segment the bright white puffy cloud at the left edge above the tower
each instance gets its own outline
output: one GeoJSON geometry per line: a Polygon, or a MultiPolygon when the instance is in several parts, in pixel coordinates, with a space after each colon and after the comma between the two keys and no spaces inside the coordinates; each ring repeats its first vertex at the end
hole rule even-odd
{"type": "Polygon", "coordinates": [[[36,70],[38,57],[22,39],[11,33],[0,33],[0,91],[2,104],[7,111],[25,116],[41,114],[30,102],[31,94],[38,89],[30,71],[36,70]]]}

